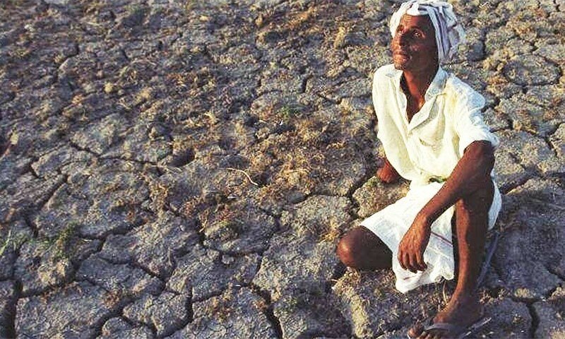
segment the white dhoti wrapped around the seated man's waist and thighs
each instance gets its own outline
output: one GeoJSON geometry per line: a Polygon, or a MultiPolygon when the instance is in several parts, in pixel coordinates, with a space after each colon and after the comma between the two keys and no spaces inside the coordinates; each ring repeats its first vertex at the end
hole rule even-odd
{"type": "MultiPolygon", "coordinates": [[[[494,181],[493,181],[494,182],[494,181]]],[[[432,235],[424,251],[427,270],[412,273],[398,263],[398,244],[403,239],[416,215],[424,205],[441,189],[443,183],[432,182],[424,186],[410,186],[408,194],[390,206],[363,220],[361,225],[374,232],[392,251],[393,271],[396,275],[396,289],[408,292],[420,285],[437,283],[441,277],[451,280],[454,273],[453,244],[451,242],[451,219],[455,207],[451,206],[432,224],[432,235]]],[[[494,183],[494,196],[489,209],[489,230],[494,227],[496,216],[501,209],[501,196],[494,183]]]]}

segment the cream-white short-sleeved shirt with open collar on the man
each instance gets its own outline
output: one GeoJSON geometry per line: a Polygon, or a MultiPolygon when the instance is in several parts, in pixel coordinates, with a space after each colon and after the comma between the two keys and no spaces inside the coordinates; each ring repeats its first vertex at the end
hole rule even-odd
{"type": "Polygon", "coordinates": [[[402,74],[394,65],[377,69],[373,103],[377,138],[386,158],[412,185],[447,179],[473,141],[490,141],[494,148],[499,145],[482,119],[484,97],[441,67],[426,91],[424,106],[408,123],[402,74]]]}

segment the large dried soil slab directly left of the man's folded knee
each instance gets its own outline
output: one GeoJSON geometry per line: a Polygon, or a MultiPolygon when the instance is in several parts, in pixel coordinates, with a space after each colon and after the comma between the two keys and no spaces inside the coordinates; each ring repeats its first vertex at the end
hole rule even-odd
{"type": "Polygon", "coordinates": [[[324,286],[331,279],[338,264],[335,244],[350,221],[347,198],[312,196],[294,207],[283,213],[280,222],[287,231],[270,240],[254,278],[275,300],[289,284],[324,286]]]}

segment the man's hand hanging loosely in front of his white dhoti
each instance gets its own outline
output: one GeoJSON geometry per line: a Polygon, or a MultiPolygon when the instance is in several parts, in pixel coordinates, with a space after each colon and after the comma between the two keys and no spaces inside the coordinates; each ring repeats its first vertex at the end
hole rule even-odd
{"type": "Polygon", "coordinates": [[[402,268],[413,273],[427,268],[424,263],[424,251],[428,246],[430,234],[432,222],[429,218],[417,215],[398,245],[398,262],[402,268]]]}

